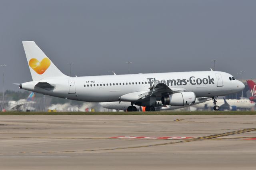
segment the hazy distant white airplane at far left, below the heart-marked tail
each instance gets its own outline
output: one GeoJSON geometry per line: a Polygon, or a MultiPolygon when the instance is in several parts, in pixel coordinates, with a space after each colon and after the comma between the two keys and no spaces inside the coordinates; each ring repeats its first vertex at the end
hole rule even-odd
{"type": "Polygon", "coordinates": [[[27,99],[20,99],[18,101],[9,101],[7,110],[12,110],[12,111],[34,110],[34,108],[30,106],[35,103],[34,98],[35,98],[35,93],[31,92],[30,95],[28,95],[27,99]]]}

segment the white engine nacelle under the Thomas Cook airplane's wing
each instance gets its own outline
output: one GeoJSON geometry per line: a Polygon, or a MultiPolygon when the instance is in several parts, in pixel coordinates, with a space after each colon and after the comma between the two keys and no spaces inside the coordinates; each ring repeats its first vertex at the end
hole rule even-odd
{"type": "Polygon", "coordinates": [[[194,92],[180,92],[174,93],[167,97],[162,97],[163,105],[172,105],[172,106],[186,106],[194,104],[196,101],[196,95],[194,92]]]}

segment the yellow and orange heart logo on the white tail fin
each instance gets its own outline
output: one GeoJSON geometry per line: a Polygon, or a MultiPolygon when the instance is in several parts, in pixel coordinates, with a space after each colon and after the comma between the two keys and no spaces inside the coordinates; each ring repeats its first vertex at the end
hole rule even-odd
{"type": "Polygon", "coordinates": [[[39,62],[37,59],[32,58],[29,60],[29,66],[36,71],[38,74],[43,74],[48,67],[51,65],[51,61],[48,58],[42,59],[41,62],[39,62]]]}

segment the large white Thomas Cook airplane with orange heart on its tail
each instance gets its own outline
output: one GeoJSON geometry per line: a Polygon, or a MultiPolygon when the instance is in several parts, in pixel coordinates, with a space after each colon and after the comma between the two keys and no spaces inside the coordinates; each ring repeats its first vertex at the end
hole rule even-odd
{"type": "MultiPolygon", "coordinates": [[[[20,89],[65,99],[110,102],[128,101],[128,111],[137,106],[155,111],[161,105],[187,106],[196,97],[212,97],[214,110],[217,97],[236,93],[244,84],[221,71],[190,71],[128,75],[70,77],[64,75],[33,41],[23,41],[32,80],[20,89]]],[[[182,64],[182,63],[181,63],[182,64]]]]}

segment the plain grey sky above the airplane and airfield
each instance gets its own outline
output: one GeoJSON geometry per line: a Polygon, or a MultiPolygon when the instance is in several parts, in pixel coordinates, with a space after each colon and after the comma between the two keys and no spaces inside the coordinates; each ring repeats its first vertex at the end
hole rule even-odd
{"type": "MultiPolygon", "coordinates": [[[[202,71],[255,77],[254,0],[8,0],[0,3],[6,89],[31,81],[21,41],[33,40],[65,74],[202,71]]],[[[2,87],[0,68],[0,86],[2,87]]],[[[0,89],[2,91],[2,89],[0,89]]]]}

